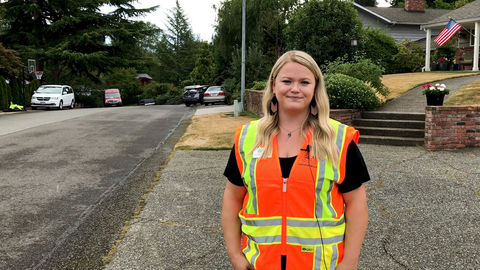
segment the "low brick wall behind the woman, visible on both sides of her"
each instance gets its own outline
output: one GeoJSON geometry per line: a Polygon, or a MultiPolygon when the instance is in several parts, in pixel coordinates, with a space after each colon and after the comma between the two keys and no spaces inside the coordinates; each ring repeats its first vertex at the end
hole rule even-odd
{"type": "MultiPolygon", "coordinates": [[[[247,99],[247,110],[251,111],[258,115],[263,115],[262,112],[262,98],[263,98],[263,91],[262,90],[248,90],[246,93],[247,99]]],[[[332,109],[330,110],[330,117],[340,121],[346,125],[351,126],[353,123],[353,119],[360,117],[361,111],[360,110],[340,110],[340,109],[332,109]]]]}

